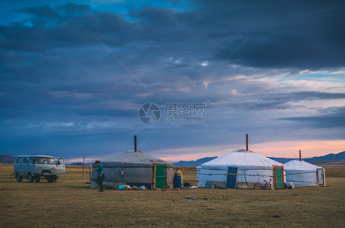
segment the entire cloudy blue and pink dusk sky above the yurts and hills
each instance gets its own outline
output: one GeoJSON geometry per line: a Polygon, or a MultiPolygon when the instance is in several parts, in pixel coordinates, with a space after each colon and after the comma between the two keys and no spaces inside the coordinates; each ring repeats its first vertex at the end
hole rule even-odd
{"type": "Polygon", "coordinates": [[[1,154],[345,151],[344,1],[0,6],[1,154]]]}

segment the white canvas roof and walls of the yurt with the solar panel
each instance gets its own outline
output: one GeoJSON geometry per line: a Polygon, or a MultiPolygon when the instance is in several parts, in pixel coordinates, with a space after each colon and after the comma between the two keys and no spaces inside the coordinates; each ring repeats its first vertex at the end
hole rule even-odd
{"type": "MultiPolygon", "coordinates": [[[[215,188],[225,188],[228,167],[237,167],[236,188],[254,188],[259,176],[260,181],[272,179],[271,188],[274,187],[273,166],[281,166],[284,172],[284,164],[266,158],[263,155],[250,150],[238,149],[201,164],[198,187],[206,184],[214,184],[215,188]]],[[[285,175],[283,180],[285,182],[285,175]]]]}

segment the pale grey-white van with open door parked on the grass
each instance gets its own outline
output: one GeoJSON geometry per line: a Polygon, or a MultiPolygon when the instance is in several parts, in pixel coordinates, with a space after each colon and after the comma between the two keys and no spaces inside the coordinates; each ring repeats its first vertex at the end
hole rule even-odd
{"type": "Polygon", "coordinates": [[[64,172],[64,159],[59,158],[55,163],[54,157],[47,155],[19,155],[13,166],[13,174],[18,182],[22,181],[22,178],[27,178],[29,182],[40,182],[41,178],[44,178],[48,183],[52,183],[64,172]]]}

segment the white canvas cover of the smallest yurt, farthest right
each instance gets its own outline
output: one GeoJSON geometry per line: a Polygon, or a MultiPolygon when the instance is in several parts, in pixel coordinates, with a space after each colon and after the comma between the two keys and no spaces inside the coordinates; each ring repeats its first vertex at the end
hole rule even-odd
{"type": "Polygon", "coordinates": [[[324,168],[299,160],[284,165],[286,181],[291,181],[295,186],[326,186],[324,168]]]}

